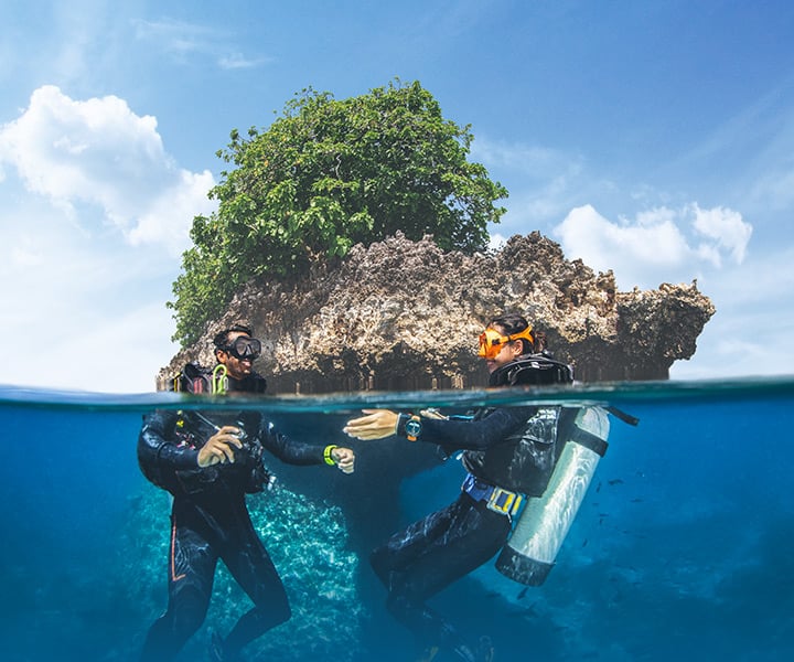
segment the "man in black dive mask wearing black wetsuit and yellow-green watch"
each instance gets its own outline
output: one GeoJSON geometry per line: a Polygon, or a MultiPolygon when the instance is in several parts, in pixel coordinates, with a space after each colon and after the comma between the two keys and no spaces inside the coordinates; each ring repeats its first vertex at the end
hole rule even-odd
{"type": "MultiPolygon", "coordinates": [[[[261,343],[238,324],[215,337],[215,355],[229,392],[261,392],[251,370],[261,343]]],[[[281,579],[257,536],[245,503],[269,474],[268,450],[292,465],[335,465],[345,473],[354,453],[336,446],[312,446],[279,434],[257,412],[158,410],[144,416],[138,441],[143,473],[173,494],[168,562],[169,604],[149,630],[142,660],[172,660],[204,621],[215,566],[223,560],[254,602],[225,640],[213,637],[215,661],[238,659],[240,650],[290,618],[281,579]]]]}

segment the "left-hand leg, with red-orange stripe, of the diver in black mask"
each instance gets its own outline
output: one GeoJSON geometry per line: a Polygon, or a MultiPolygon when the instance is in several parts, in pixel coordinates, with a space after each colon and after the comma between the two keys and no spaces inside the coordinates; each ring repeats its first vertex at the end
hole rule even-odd
{"type": "Polygon", "coordinates": [[[173,660],[204,622],[212,596],[217,555],[201,526],[193,526],[201,523],[191,513],[178,510],[174,504],[168,563],[168,609],[149,630],[141,654],[144,662],[173,660]]]}

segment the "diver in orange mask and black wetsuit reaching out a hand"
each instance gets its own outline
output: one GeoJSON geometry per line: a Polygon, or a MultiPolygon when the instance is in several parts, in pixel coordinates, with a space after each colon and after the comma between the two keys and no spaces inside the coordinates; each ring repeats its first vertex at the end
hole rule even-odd
{"type": "MultiPolygon", "coordinates": [[[[533,334],[519,314],[495,318],[480,337],[480,355],[494,386],[511,383],[506,375],[522,356],[534,352],[545,352],[545,337],[533,334]]],[[[562,366],[555,363],[549,362],[555,370],[562,366]]],[[[564,369],[568,373],[552,381],[572,378],[570,369],[564,369]]],[[[522,498],[544,492],[556,460],[559,410],[498,407],[458,420],[433,410],[421,416],[383,409],[364,409],[364,414],[347,423],[347,435],[366,440],[396,434],[409,441],[437,444],[448,456],[465,450],[462,460],[469,474],[458,499],[393,535],[373,552],[371,563],[388,589],[389,612],[414,632],[421,660],[431,660],[440,650],[466,662],[491,660],[487,638],[478,647],[466,644],[426,600],[494,556],[509,536],[522,498]]]]}

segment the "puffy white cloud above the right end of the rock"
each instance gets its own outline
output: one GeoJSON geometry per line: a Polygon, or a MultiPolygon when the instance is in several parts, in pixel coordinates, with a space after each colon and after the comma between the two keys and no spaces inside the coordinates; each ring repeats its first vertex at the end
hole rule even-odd
{"type": "Polygon", "coordinates": [[[744,258],[752,226],[725,207],[659,207],[632,222],[612,222],[591,205],[571,210],[554,231],[568,259],[580,258],[599,271],[612,269],[621,289],[688,282],[719,268],[723,254],[744,258]]]}

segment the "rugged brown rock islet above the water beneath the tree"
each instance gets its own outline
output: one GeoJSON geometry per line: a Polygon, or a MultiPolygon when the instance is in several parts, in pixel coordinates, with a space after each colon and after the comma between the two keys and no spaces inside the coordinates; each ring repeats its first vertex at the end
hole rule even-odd
{"type": "Polygon", "coordinates": [[[473,256],[398,234],[305,279],[249,284],[158,383],[189,361],[214,364],[213,335],[245,319],[262,340],[255,367],[270,393],[484,386],[476,338],[504,311],[546,332],[578,381],[598,382],[668,378],[673,362],[695,353],[715,307],[695,284],[620,292],[611,270],[565,259],[538,232],[473,256]]]}

